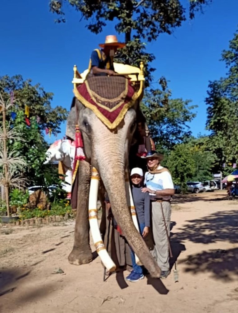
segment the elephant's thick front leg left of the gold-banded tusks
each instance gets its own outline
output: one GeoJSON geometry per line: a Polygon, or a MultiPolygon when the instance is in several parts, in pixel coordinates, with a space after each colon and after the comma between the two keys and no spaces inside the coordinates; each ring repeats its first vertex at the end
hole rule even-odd
{"type": "Polygon", "coordinates": [[[77,214],[75,221],[74,246],[68,257],[70,264],[80,265],[92,261],[89,244],[88,199],[91,167],[86,161],[80,161],[78,169],[77,214]]]}

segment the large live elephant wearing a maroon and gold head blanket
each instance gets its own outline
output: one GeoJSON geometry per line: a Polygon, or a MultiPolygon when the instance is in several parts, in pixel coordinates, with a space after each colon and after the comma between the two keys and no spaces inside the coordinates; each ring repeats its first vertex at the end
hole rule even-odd
{"type": "Polygon", "coordinates": [[[75,140],[75,124],[79,126],[85,158],[79,161],[77,168],[79,179],[75,238],[68,257],[69,262],[80,265],[92,260],[87,208],[93,168],[99,173],[101,182],[106,188],[112,213],[123,235],[150,275],[159,278],[160,268],[135,228],[127,203],[125,180],[128,180],[128,177],[125,177],[125,173],[129,168],[130,146],[135,140],[139,111],[138,96],[135,96],[136,92],[127,78],[122,76],[89,78],[79,88],[75,88],[74,93],[75,97],[67,119],[66,136],[75,140]],[[93,101],[95,103],[92,104],[93,101]],[[123,101],[126,104],[121,106],[115,117],[113,108],[118,108],[123,101]]]}

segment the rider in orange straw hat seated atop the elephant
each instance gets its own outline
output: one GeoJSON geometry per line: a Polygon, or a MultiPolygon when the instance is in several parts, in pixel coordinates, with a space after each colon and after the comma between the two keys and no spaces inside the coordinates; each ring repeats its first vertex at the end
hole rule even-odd
{"type": "Polygon", "coordinates": [[[91,76],[114,75],[113,57],[119,48],[126,44],[117,41],[115,35],[106,36],[105,43],[99,44],[102,49],[95,49],[91,54],[89,62],[89,74],[91,76]]]}

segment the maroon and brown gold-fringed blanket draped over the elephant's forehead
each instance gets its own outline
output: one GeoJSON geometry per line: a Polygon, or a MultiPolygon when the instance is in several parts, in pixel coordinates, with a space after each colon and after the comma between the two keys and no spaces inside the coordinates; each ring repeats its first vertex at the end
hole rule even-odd
{"type": "Polygon", "coordinates": [[[137,97],[130,80],[122,76],[91,77],[75,88],[74,94],[109,129],[119,125],[137,97]]]}

